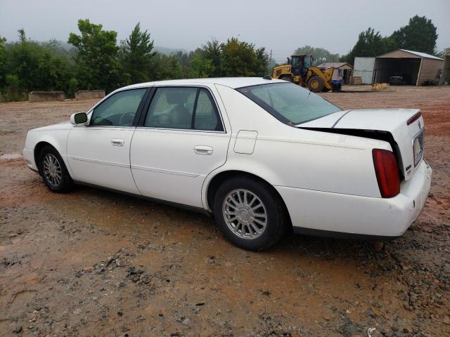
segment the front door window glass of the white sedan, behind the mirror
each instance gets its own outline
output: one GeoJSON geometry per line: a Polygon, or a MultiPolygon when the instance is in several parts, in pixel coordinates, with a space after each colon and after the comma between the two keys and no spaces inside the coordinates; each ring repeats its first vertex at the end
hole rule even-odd
{"type": "Polygon", "coordinates": [[[103,100],[92,113],[91,126],[132,126],[146,88],[120,91],[103,100]]]}

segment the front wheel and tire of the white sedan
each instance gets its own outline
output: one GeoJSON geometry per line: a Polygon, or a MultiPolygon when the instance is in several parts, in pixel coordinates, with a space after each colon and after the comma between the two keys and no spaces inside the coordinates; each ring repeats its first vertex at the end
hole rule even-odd
{"type": "Polygon", "coordinates": [[[52,192],[63,193],[73,188],[73,180],[63,159],[50,145],[46,145],[39,153],[39,173],[52,192]]]}

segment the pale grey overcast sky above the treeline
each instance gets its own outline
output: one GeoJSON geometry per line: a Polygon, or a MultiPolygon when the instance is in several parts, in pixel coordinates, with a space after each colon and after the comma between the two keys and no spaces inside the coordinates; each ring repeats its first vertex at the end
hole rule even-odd
{"type": "Polygon", "coordinates": [[[141,22],[156,46],[193,50],[212,37],[234,36],[280,60],[306,44],[347,53],[367,27],[389,35],[416,14],[437,27],[438,50],[450,47],[449,0],[0,0],[0,35],[17,40],[24,28],[31,39],[67,41],[77,20],[89,18],[120,41],[141,22]]]}

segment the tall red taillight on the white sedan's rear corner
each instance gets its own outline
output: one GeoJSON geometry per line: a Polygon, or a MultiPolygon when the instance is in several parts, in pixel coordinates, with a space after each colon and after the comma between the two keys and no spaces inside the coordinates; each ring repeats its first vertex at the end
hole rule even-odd
{"type": "Polygon", "coordinates": [[[387,150],[373,149],[372,156],[381,197],[395,197],[400,192],[400,175],[394,153],[387,150]]]}

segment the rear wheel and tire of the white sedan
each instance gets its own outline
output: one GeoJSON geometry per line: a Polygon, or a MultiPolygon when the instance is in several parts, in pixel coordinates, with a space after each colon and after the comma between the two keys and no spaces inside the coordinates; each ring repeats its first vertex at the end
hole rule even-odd
{"type": "Polygon", "coordinates": [[[263,183],[246,177],[222,183],[214,197],[214,218],[232,244],[249,251],[269,248],[283,236],[286,227],[280,197],[263,183]],[[239,213],[235,216],[230,212],[239,213]]]}

